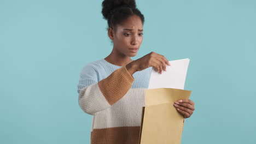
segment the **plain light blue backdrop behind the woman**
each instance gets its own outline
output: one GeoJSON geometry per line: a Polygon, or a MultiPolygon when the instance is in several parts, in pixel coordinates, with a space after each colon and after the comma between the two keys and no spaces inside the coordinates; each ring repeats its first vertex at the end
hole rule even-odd
{"type": "MultiPolygon", "coordinates": [[[[0,143],[89,143],[79,73],[112,50],[102,1],[0,1],[0,143]]],[[[190,58],[182,143],[256,143],[256,1],[137,0],[136,57],[190,58]]]]}

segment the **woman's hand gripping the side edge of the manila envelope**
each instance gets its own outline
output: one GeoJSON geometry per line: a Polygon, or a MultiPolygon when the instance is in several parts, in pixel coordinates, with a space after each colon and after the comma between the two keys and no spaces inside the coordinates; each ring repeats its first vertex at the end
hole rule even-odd
{"type": "Polygon", "coordinates": [[[176,107],[176,110],[181,113],[184,118],[189,118],[195,110],[195,103],[190,99],[175,101],[173,106],[176,107]]]}

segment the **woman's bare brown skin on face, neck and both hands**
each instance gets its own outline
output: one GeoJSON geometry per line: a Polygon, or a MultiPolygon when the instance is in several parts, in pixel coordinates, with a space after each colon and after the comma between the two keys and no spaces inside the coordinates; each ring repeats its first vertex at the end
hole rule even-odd
{"type": "MultiPolygon", "coordinates": [[[[139,16],[133,15],[128,17],[121,25],[108,29],[108,36],[113,40],[113,50],[104,59],[109,63],[119,66],[125,66],[127,71],[133,75],[136,71],[141,71],[149,67],[153,67],[159,73],[166,71],[166,64],[170,65],[168,60],[155,52],[133,61],[131,57],[137,55],[129,49],[138,48],[143,41],[143,24],[139,16]],[[130,30],[125,30],[130,29],[130,30]],[[142,31],[141,31],[142,30],[142,31]]],[[[195,103],[190,99],[183,99],[174,102],[174,107],[181,113],[184,118],[190,117],[195,110],[195,103]]]]}

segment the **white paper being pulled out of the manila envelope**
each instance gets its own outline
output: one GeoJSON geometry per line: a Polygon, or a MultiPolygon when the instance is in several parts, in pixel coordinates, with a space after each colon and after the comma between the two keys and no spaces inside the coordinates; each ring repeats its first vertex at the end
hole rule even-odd
{"type": "Polygon", "coordinates": [[[169,61],[171,65],[166,64],[166,71],[158,73],[154,68],[149,79],[148,89],[153,88],[177,88],[184,89],[187,75],[189,58],[169,61]]]}

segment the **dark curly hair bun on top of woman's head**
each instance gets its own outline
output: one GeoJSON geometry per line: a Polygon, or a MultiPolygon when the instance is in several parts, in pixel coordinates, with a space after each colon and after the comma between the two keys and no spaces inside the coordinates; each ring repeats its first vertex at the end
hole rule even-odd
{"type": "Polygon", "coordinates": [[[102,2],[102,15],[104,19],[108,19],[111,10],[118,7],[136,8],[135,0],[104,0],[102,2]]]}

